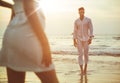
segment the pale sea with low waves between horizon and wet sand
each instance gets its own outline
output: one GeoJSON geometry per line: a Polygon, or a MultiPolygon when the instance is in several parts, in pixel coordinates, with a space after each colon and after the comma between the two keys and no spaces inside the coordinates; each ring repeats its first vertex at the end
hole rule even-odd
{"type": "MultiPolygon", "coordinates": [[[[4,29],[0,29],[0,48],[2,45],[3,33],[4,29]]],[[[71,34],[47,34],[47,36],[52,54],[78,54],[77,49],[73,46],[73,36],[71,34]]],[[[120,56],[120,34],[95,34],[89,48],[89,55],[120,56]]]]}

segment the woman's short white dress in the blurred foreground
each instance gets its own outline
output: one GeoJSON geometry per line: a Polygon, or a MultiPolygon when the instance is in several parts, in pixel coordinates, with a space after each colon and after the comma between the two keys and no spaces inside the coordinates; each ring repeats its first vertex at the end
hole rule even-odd
{"type": "MultiPolygon", "coordinates": [[[[29,1],[28,1],[29,2],[29,1]]],[[[34,0],[36,11],[44,27],[44,15],[34,0]]],[[[45,67],[41,63],[42,47],[24,13],[22,0],[14,0],[15,17],[9,23],[0,51],[0,66],[7,66],[16,71],[43,72],[54,69],[54,65],[45,67]]]]}

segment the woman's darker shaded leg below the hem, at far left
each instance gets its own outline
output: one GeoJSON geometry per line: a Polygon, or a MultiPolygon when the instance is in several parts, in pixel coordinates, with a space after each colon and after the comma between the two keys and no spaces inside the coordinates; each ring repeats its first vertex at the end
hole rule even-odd
{"type": "Polygon", "coordinates": [[[24,83],[25,72],[18,72],[10,68],[7,68],[7,77],[8,83],[24,83]]]}

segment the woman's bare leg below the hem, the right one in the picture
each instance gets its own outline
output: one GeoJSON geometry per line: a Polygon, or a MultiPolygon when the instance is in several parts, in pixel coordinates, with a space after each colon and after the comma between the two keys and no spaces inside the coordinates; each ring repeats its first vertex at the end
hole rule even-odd
{"type": "Polygon", "coordinates": [[[42,83],[59,83],[55,70],[45,72],[35,72],[42,83]]]}

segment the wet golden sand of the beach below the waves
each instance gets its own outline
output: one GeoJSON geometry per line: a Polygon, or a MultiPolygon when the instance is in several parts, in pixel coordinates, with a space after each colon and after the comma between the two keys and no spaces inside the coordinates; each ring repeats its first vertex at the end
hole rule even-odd
{"type": "MultiPolygon", "coordinates": [[[[60,83],[120,83],[120,57],[89,56],[87,75],[81,76],[77,55],[53,54],[60,83]]],[[[0,67],[0,83],[7,83],[6,70],[0,67]]],[[[27,72],[25,83],[40,83],[33,72],[27,72]]]]}

